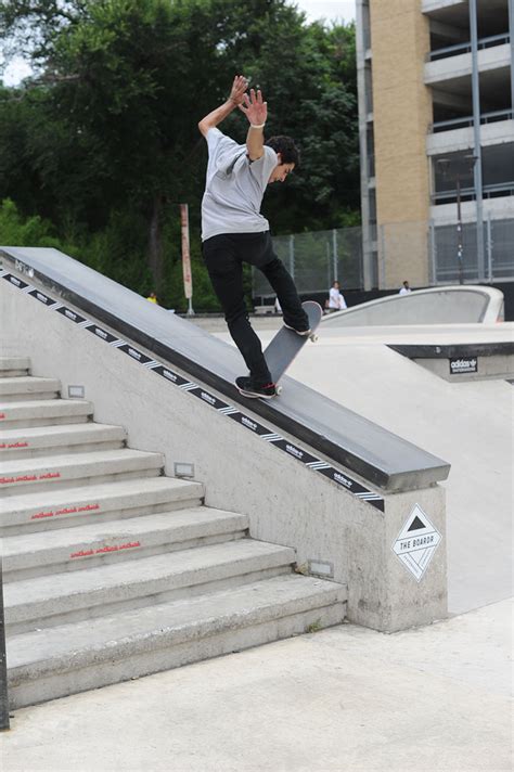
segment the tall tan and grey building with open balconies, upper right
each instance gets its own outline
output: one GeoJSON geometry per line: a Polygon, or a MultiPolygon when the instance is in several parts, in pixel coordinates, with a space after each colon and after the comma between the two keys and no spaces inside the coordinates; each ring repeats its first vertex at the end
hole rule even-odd
{"type": "Polygon", "coordinates": [[[357,0],[364,284],[514,280],[514,0],[357,0]]]}

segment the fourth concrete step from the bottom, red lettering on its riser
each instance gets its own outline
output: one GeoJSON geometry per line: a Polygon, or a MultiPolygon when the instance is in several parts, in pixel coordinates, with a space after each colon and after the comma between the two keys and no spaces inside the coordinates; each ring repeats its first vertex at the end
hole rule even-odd
{"type": "Polygon", "coordinates": [[[204,486],[174,477],[145,477],[94,487],[57,488],[5,499],[3,536],[106,523],[198,506],[204,486]]]}

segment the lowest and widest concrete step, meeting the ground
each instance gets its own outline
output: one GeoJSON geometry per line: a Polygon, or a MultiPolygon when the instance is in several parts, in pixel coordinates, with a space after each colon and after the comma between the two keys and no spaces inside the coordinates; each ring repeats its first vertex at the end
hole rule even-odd
{"type": "Polygon", "coordinates": [[[13,709],[337,625],[346,590],[287,575],[8,639],[13,709]]]}

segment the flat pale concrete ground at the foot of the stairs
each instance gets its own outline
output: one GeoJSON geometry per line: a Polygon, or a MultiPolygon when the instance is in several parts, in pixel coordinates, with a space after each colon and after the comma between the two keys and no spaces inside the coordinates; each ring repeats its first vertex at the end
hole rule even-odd
{"type": "Polygon", "coordinates": [[[342,625],[18,710],[4,772],[512,770],[512,605],[342,625]]]}

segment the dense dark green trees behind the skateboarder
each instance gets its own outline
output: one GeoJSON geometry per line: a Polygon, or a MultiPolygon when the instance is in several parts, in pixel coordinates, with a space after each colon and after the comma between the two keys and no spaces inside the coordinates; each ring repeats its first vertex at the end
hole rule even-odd
{"type": "MultiPolygon", "coordinates": [[[[133,288],[153,284],[179,306],[178,203],[188,202],[207,293],[196,124],[234,73],[262,87],[269,133],[303,151],[291,183],[267,196],[273,231],[343,224],[358,207],[351,26],[307,25],[285,0],[7,0],[0,33],[17,36],[36,72],[0,92],[0,197],[49,218],[81,259],[133,288]]],[[[244,142],[241,114],[221,128],[244,142]]]]}

